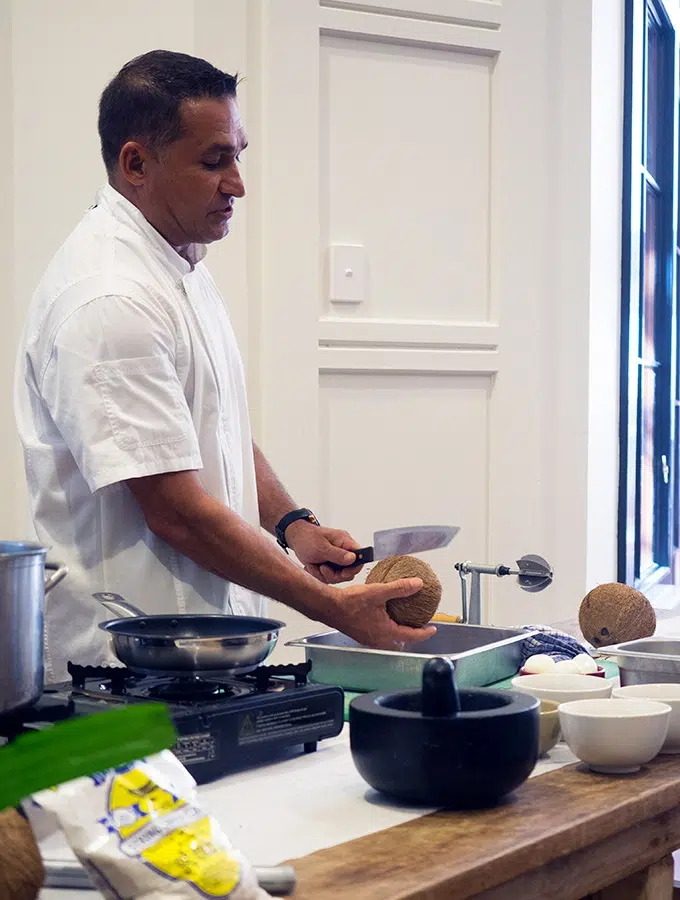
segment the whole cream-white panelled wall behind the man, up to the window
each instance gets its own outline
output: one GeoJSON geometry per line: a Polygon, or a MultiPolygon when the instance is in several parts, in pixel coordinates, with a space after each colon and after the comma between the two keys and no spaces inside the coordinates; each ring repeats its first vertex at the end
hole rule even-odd
{"type": "Polygon", "coordinates": [[[209,262],[294,495],[360,540],[462,525],[446,564],[430,557],[449,611],[455,559],[543,553],[554,587],[489,585],[488,614],[565,618],[615,575],[622,0],[349,6],[0,4],[0,533],[25,531],[22,310],[104,177],[101,89],[166,47],[246,76],[248,197],[209,262]],[[359,309],[326,298],[333,241],[369,251],[359,309]]]}

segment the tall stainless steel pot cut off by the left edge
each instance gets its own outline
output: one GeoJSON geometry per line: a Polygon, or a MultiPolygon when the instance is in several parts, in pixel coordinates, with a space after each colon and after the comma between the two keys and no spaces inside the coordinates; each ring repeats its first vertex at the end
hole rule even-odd
{"type": "Polygon", "coordinates": [[[45,594],[68,573],[46,556],[40,544],[0,541],[0,715],[42,694],[45,594]]]}

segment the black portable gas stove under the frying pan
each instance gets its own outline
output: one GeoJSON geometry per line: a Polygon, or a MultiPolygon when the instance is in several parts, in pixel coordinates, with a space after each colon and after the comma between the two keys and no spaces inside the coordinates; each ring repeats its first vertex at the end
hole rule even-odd
{"type": "Polygon", "coordinates": [[[339,687],[309,684],[311,663],[260,666],[217,679],[136,675],[126,668],[68,665],[71,682],[45,688],[28,710],[0,722],[17,734],[120,703],[167,704],[178,734],[173,753],[199,784],[258,765],[286,750],[316,750],[343,728],[339,687]]]}

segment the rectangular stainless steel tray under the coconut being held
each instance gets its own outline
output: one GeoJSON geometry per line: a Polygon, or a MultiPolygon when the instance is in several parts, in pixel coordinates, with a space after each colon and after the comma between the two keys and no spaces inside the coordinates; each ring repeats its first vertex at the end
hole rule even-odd
{"type": "Polygon", "coordinates": [[[339,631],[289,641],[311,660],[310,679],[348,691],[383,691],[420,687],[423,666],[433,656],[447,656],[456,666],[461,687],[483,687],[514,675],[522,661],[522,641],[535,631],[485,625],[437,623],[437,634],[404,650],[371,650],[339,631]]]}

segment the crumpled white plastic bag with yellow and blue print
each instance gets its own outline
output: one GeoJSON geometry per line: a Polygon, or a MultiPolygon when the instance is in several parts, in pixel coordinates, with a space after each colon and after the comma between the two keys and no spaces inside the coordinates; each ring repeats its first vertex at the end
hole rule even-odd
{"type": "Polygon", "coordinates": [[[265,900],[169,751],[35,794],[107,900],[265,900]]]}

